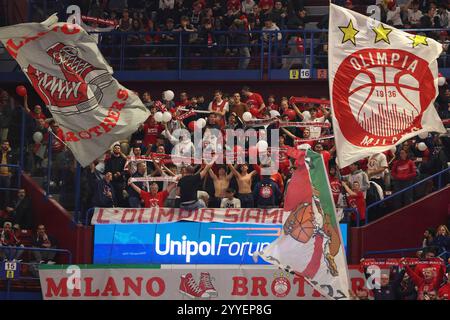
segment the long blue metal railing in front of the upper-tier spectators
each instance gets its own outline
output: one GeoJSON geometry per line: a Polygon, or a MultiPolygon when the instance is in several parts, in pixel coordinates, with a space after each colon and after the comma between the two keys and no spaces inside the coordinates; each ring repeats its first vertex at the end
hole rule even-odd
{"type": "MultiPolygon", "coordinates": [[[[434,34],[443,30],[450,29],[405,31],[434,34]]],[[[296,76],[292,79],[327,78],[327,30],[213,31],[216,39],[213,44],[201,38],[200,30],[113,30],[91,34],[98,37],[100,51],[115,71],[169,71],[171,79],[182,80],[194,70],[239,70],[240,73],[233,73],[234,79],[245,78],[251,73],[252,79],[262,80],[290,79],[290,70],[295,70],[296,76]],[[239,35],[248,40],[236,38],[239,35]]],[[[438,64],[440,68],[449,68],[449,55],[442,54],[438,64]]]]}

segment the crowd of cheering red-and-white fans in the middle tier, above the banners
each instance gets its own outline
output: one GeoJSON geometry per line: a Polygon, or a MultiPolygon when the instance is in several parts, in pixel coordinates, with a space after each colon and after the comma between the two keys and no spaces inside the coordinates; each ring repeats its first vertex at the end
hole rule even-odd
{"type": "MultiPolygon", "coordinates": [[[[446,87],[441,87],[440,91],[436,108],[441,117],[447,119],[450,91],[446,87]]],[[[8,95],[5,92],[3,91],[3,96],[8,95]]],[[[206,94],[205,96],[208,97],[206,94]]],[[[285,150],[287,147],[306,144],[321,153],[324,158],[338,210],[354,208],[356,210],[351,214],[353,221],[359,219],[360,223],[364,223],[366,207],[369,204],[383,199],[386,195],[404,190],[415,182],[448,167],[450,148],[447,134],[428,133],[409,139],[397,148],[362,159],[346,168],[338,168],[327,103],[295,103],[295,99],[276,95],[267,95],[267,99],[264,99],[260,93],[248,87],[229,94],[216,90],[210,99],[204,96],[190,96],[188,92],[180,92],[179,98],[173,101],[154,99],[150,92],[144,92],[141,99],[150,110],[151,116],[130,139],[118,141],[90,167],[82,169],[80,189],[83,210],[91,207],[154,206],[280,207],[283,206],[283,194],[295,170],[295,164],[286,157],[285,150]],[[161,108],[167,108],[172,113],[172,119],[167,123],[155,120],[155,114],[161,108]],[[198,113],[189,114],[189,111],[185,110],[198,113]],[[254,119],[268,119],[271,117],[271,111],[278,112],[282,122],[305,122],[308,125],[280,129],[278,141],[280,153],[277,162],[279,169],[270,175],[261,175],[261,166],[264,166],[261,162],[248,163],[249,153],[253,152],[249,151],[252,150],[252,146],[248,145],[248,141],[245,145],[248,151],[245,156],[247,163],[243,165],[204,163],[203,166],[196,167],[187,164],[177,165],[170,160],[171,154],[191,156],[191,151],[194,152],[199,147],[194,145],[193,135],[198,119],[205,119],[206,122],[202,129],[201,143],[203,147],[206,145],[211,147],[217,144],[214,132],[225,133],[226,129],[239,128],[246,132],[252,129],[243,121],[245,112],[250,112],[254,119]],[[178,116],[183,114],[188,117],[178,119],[178,116]],[[176,139],[173,133],[178,128],[185,128],[189,134],[176,139]],[[142,179],[139,181],[139,178],[144,177],[164,177],[164,179],[155,182],[142,179]],[[130,178],[136,180],[130,181],[130,178]]],[[[60,194],[60,202],[71,208],[74,203],[76,162],[65,145],[61,128],[53,119],[47,119],[50,114],[44,107],[36,105],[30,108],[27,97],[23,101],[14,100],[12,98],[3,100],[1,108],[3,110],[10,108],[12,113],[20,113],[22,109],[29,115],[25,171],[35,176],[43,176],[50,163],[51,178],[46,183],[50,185],[52,193],[60,194]],[[33,140],[36,133],[40,140],[33,140]],[[50,133],[53,139],[52,159],[49,161],[45,150],[48,147],[50,133]]],[[[270,135],[270,129],[276,126],[276,123],[270,124],[267,127],[267,135],[270,135]]],[[[8,129],[4,130],[8,132],[8,129]]],[[[13,135],[14,133],[8,133],[6,137],[15,140],[14,143],[5,140],[2,144],[0,151],[2,164],[17,164],[19,143],[17,136],[13,135]]],[[[267,140],[270,143],[270,137],[267,140]]],[[[224,145],[223,148],[225,153],[239,153],[236,149],[238,146],[227,149],[224,145]]],[[[16,171],[16,168],[1,167],[0,187],[11,187],[16,171]]],[[[448,175],[444,175],[440,183],[445,185],[447,182],[448,175]]],[[[393,201],[369,210],[370,221],[393,209],[408,205],[415,199],[436,190],[437,187],[438,179],[429,179],[426,183],[401,192],[393,201]]],[[[21,193],[15,199],[10,197],[10,192],[0,192],[2,194],[0,209],[6,213],[16,212],[11,216],[21,220],[14,222],[28,227],[29,220],[20,213],[24,211],[20,208],[24,206],[20,202],[21,193]]]]}

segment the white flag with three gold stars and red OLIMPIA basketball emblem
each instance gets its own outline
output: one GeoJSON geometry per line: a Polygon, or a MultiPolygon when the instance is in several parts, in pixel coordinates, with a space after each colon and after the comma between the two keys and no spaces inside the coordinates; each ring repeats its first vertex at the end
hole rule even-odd
{"type": "Polygon", "coordinates": [[[331,4],[330,98],[339,166],[423,132],[445,132],[434,101],[442,45],[331,4]]]}

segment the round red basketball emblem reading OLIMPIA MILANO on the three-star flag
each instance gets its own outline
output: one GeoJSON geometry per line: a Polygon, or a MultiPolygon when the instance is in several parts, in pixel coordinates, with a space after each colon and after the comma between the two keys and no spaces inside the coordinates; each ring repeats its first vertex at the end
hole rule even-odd
{"type": "Polygon", "coordinates": [[[422,114],[435,93],[425,60],[403,50],[362,49],[344,59],[336,72],[335,116],[342,134],[355,145],[395,144],[422,128],[422,114]]]}

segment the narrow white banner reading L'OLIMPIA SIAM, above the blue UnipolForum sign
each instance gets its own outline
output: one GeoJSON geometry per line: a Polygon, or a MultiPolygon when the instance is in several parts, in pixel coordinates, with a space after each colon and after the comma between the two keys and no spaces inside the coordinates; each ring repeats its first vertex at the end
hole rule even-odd
{"type": "Polygon", "coordinates": [[[169,223],[180,220],[249,224],[281,224],[289,211],[259,208],[203,208],[193,211],[179,208],[95,208],[92,224],[169,223]]]}

